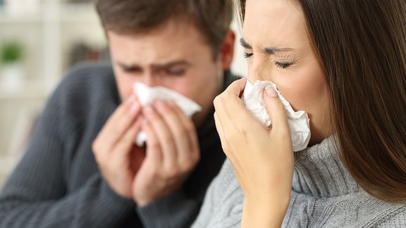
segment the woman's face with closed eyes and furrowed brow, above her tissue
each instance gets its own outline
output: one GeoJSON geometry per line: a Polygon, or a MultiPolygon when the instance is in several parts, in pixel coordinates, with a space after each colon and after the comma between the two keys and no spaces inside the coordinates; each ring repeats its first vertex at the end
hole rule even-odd
{"type": "Polygon", "coordinates": [[[302,9],[294,0],[248,0],[241,44],[250,82],[274,82],[294,110],[305,110],[310,144],[316,144],[333,134],[330,97],[305,26],[302,9]]]}

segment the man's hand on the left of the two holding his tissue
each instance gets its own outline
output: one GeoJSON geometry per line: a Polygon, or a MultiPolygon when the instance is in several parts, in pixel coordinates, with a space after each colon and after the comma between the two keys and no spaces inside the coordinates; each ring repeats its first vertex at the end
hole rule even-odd
{"type": "Polygon", "coordinates": [[[118,195],[132,198],[131,188],[144,151],[134,144],[141,129],[140,103],[130,96],[114,111],[92,144],[101,174],[118,195]]]}

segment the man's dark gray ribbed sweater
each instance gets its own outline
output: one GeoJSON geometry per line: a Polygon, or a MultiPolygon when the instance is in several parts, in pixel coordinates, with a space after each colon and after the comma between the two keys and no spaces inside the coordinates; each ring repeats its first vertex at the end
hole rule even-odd
{"type": "MultiPolygon", "coordinates": [[[[237,78],[225,72],[224,89],[237,78]]],[[[190,226],[225,158],[213,113],[197,129],[201,161],[183,189],[137,208],[104,181],[91,148],[120,103],[109,64],[82,65],[64,77],[0,193],[0,227],[190,226]]]]}

